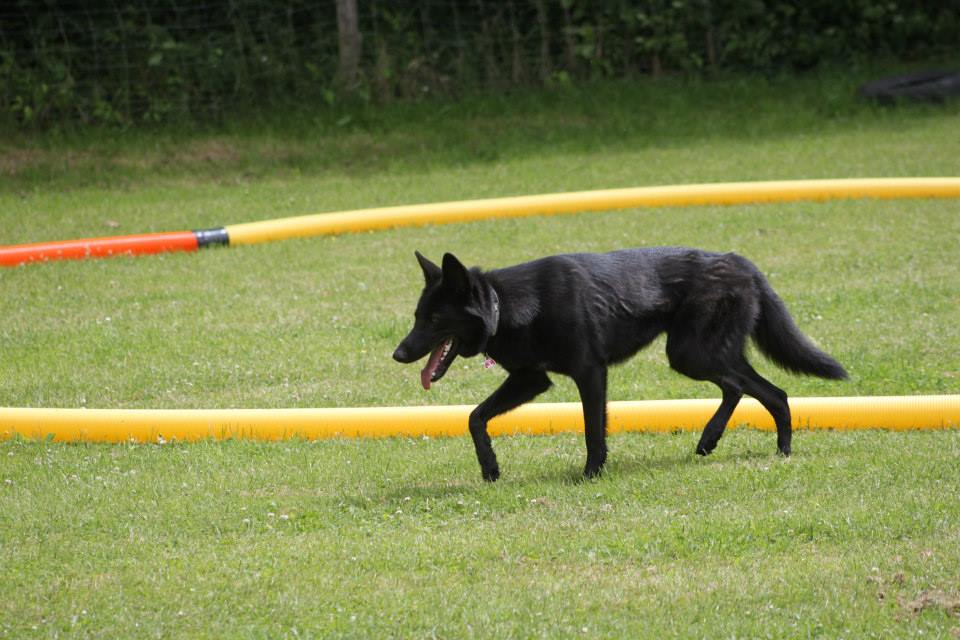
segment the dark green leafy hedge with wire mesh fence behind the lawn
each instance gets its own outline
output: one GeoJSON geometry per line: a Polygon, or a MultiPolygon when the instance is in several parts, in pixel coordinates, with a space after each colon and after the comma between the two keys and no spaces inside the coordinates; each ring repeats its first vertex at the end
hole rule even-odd
{"type": "Polygon", "coordinates": [[[7,0],[19,126],[216,119],[585,77],[803,70],[955,53],[960,0],[7,0]],[[338,5],[353,5],[345,82],[338,5]]]}

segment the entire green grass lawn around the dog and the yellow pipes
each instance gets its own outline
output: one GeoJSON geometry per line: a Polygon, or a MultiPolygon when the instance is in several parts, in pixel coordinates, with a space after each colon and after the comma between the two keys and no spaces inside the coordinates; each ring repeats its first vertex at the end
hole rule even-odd
{"type": "MultiPolygon", "coordinates": [[[[619,186],[960,173],[960,108],[862,78],[611,83],[217,130],[12,136],[0,244],[619,186]]],[[[683,244],[750,257],[850,371],[792,395],[960,390],[960,202],[628,210],[0,271],[0,406],[471,403],[390,353],[420,249],[494,267],[683,244]]],[[[718,397],[655,343],[610,397],[718,397]]],[[[542,399],[576,400],[558,384],[542,399]]],[[[882,426],[882,425],[881,425],[882,426]]],[[[0,638],[960,636],[960,432],[196,445],[0,442],[0,638]]]]}

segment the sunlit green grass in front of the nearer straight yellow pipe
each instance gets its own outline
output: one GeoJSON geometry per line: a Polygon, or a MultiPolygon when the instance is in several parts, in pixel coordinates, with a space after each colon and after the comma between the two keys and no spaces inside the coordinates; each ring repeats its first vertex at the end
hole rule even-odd
{"type": "Polygon", "coordinates": [[[956,432],[695,438],[614,436],[585,483],[578,438],[501,438],[495,485],[462,439],[3,443],[0,637],[960,627],[956,432]]]}

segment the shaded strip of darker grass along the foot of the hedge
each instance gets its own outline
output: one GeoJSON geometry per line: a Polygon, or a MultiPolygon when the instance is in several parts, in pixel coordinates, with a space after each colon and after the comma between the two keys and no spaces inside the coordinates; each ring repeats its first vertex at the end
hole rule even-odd
{"type": "Polygon", "coordinates": [[[0,175],[14,189],[156,180],[248,181],[490,164],[544,153],[665,149],[858,129],[902,130],[955,107],[880,109],[855,89],[876,72],[632,79],[458,100],[304,109],[218,126],[7,136],[0,175]],[[349,124],[344,124],[348,122],[349,124]]]}

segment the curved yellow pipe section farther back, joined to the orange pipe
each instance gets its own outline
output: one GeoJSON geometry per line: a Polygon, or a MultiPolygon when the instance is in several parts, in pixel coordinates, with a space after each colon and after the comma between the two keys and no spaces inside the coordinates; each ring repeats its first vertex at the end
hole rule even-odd
{"type": "Polygon", "coordinates": [[[958,198],[960,178],[858,178],[730,182],[576,191],[357,209],[228,225],[231,245],[389,227],[633,207],[732,205],[837,198],[958,198]]]}

